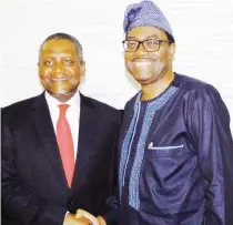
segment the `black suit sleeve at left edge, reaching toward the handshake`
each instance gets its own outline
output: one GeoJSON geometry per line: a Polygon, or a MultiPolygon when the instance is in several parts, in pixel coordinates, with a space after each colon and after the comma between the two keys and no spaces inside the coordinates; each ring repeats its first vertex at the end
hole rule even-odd
{"type": "Polygon", "coordinates": [[[1,130],[1,203],[3,217],[23,225],[61,225],[67,208],[44,202],[20,181],[14,164],[16,147],[7,125],[1,130]]]}

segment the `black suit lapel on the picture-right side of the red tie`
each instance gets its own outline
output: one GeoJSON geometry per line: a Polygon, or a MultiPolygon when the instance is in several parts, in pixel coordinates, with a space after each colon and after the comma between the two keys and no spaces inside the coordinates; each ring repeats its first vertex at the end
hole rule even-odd
{"type": "Polygon", "coordinates": [[[75,190],[85,183],[88,172],[90,170],[90,155],[95,153],[97,129],[99,123],[99,111],[94,106],[91,99],[81,96],[81,111],[80,111],[80,129],[79,129],[79,143],[75,161],[75,170],[72,181],[71,190],[75,190]]]}

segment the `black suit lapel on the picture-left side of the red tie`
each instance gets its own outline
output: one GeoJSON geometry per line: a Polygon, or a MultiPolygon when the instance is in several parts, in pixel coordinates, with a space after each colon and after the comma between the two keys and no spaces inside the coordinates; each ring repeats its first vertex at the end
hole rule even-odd
{"type": "Polygon", "coordinates": [[[61,192],[67,193],[68,184],[60,157],[55,133],[52,125],[49,108],[44,98],[41,94],[33,103],[34,111],[32,113],[32,121],[38,133],[38,137],[41,142],[42,150],[47,155],[58,181],[61,184],[61,192]],[[65,191],[64,191],[65,190],[65,191]]]}

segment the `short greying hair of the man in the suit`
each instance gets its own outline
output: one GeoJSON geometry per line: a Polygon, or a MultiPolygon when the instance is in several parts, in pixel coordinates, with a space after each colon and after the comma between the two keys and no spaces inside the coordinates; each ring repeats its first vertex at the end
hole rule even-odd
{"type": "Polygon", "coordinates": [[[43,43],[40,45],[40,54],[41,54],[41,50],[43,48],[43,44],[47,43],[50,40],[69,40],[69,41],[71,41],[75,45],[77,52],[79,53],[79,57],[80,57],[80,61],[83,62],[83,53],[82,53],[81,43],[74,37],[72,37],[70,34],[67,34],[67,33],[54,33],[52,35],[49,35],[43,41],[43,43]]]}

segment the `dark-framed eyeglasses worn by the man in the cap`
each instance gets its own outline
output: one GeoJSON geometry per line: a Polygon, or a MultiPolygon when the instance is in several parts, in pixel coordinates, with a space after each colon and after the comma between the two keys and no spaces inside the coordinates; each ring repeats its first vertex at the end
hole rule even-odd
{"type": "Polygon", "coordinates": [[[142,44],[144,50],[148,52],[155,52],[159,51],[160,44],[162,42],[166,42],[171,44],[171,41],[158,40],[158,39],[148,39],[144,41],[138,40],[124,40],[122,41],[123,48],[125,52],[135,52],[139,49],[139,45],[142,44]]]}

